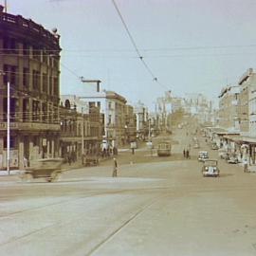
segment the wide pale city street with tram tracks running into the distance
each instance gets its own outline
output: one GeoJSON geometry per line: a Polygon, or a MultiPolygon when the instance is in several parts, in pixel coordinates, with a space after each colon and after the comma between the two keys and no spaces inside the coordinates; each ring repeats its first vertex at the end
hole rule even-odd
{"type": "Polygon", "coordinates": [[[202,177],[198,150],[182,159],[192,137],[173,139],[170,157],[124,150],[117,178],[111,160],[54,183],[0,177],[0,255],[255,255],[256,174],[220,160],[202,177]]]}

